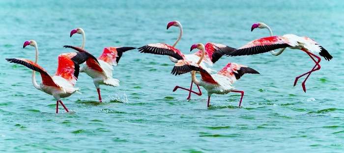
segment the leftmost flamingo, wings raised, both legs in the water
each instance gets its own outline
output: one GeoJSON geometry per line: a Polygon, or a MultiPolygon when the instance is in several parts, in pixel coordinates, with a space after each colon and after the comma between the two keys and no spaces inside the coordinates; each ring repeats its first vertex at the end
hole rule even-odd
{"type": "Polygon", "coordinates": [[[21,64],[32,71],[33,86],[56,99],[56,113],[58,113],[58,103],[61,103],[66,112],[69,112],[67,107],[61,101],[61,98],[69,97],[79,88],[75,88],[75,84],[79,75],[79,64],[82,64],[90,56],[87,53],[62,53],[58,56],[57,71],[54,76],[50,76],[41,66],[37,64],[38,61],[38,47],[34,40],[24,42],[23,48],[26,46],[33,46],[36,51],[35,61],[24,58],[6,58],[10,63],[21,64]],[[42,77],[40,85],[36,82],[35,72],[39,72],[42,77]]]}

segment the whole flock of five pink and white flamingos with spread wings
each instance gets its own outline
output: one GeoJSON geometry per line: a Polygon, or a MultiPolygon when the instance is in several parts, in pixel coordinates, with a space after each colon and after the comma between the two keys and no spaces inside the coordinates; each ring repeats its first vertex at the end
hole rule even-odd
{"type": "Polygon", "coordinates": [[[68,108],[63,104],[61,98],[69,97],[73,93],[77,92],[79,88],[75,87],[80,72],[86,73],[89,77],[93,78],[94,86],[98,93],[99,102],[102,102],[100,94],[100,85],[119,86],[119,80],[113,78],[114,66],[117,66],[119,59],[123,52],[138,49],[142,53],[151,53],[159,55],[168,55],[170,60],[175,63],[172,68],[172,75],[191,74],[190,88],[184,88],[181,86],[175,86],[173,92],[177,89],[183,89],[189,92],[187,100],[191,99],[191,93],[198,96],[202,95],[202,86],[208,94],[207,107],[210,106],[210,96],[212,94],[225,95],[229,92],[236,92],[241,94],[239,107],[241,106],[244,91],[236,90],[232,84],[242,77],[244,74],[259,74],[245,65],[237,63],[228,63],[224,68],[216,73],[210,67],[216,63],[222,56],[241,56],[241,55],[254,55],[258,53],[270,52],[272,55],[278,56],[286,48],[297,49],[306,52],[311,59],[315,62],[315,66],[308,72],[297,76],[294,81],[296,85],[299,78],[306,76],[302,82],[302,89],[306,92],[306,80],[315,71],[320,69],[321,58],[325,60],[331,60],[332,55],[326,51],[322,46],[316,43],[313,39],[308,37],[300,37],[294,34],[286,34],[283,36],[273,36],[272,30],[264,23],[256,23],[251,27],[251,31],[255,28],[267,28],[270,36],[253,40],[242,47],[235,49],[227,45],[217,43],[197,43],[191,45],[190,51],[198,49],[198,51],[192,54],[183,54],[175,46],[183,35],[183,27],[178,21],[169,22],[167,29],[171,26],[179,27],[180,33],[178,39],[171,46],[165,43],[148,44],[140,48],[135,47],[105,47],[103,53],[96,58],[91,53],[85,50],[86,35],[82,28],[76,28],[71,30],[70,37],[74,34],[81,34],[83,42],[81,47],[63,46],[64,48],[70,48],[77,52],[62,53],[57,57],[57,70],[54,76],[51,76],[40,65],[38,65],[38,45],[36,41],[25,41],[23,48],[26,46],[32,46],[35,49],[35,61],[24,58],[6,58],[11,63],[21,64],[32,70],[32,84],[33,86],[49,95],[52,95],[56,99],[56,113],[58,113],[59,103],[65,109],[68,108]],[[280,51],[274,51],[280,49],[280,51]],[[80,67],[81,64],[84,64],[80,67]],[[35,72],[41,75],[42,81],[37,83],[35,78],[35,72]],[[199,80],[196,74],[201,75],[199,80]],[[193,91],[193,84],[196,84],[198,92],[193,91]]]}

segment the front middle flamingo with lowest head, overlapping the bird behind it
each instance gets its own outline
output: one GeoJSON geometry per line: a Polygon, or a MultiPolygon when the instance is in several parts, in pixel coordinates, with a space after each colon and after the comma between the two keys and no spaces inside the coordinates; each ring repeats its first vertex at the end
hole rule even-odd
{"type": "MultiPolygon", "coordinates": [[[[199,49],[204,51],[204,45],[194,44],[191,46],[190,51],[193,49],[199,49]]],[[[232,84],[239,79],[244,74],[259,74],[256,70],[249,68],[244,65],[239,65],[236,63],[228,63],[222,70],[220,70],[217,74],[210,75],[208,71],[203,69],[200,65],[204,54],[201,56],[197,63],[193,61],[188,61],[186,59],[178,60],[178,62],[174,65],[172,69],[173,75],[181,75],[184,73],[188,73],[192,71],[192,81],[197,84],[201,85],[205,88],[208,92],[208,102],[207,107],[210,106],[210,96],[212,94],[221,94],[225,95],[229,92],[236,92],[241,93],[241,98],[239,102],[239,107],[241,106],[242,98],[244,97],[244,91],[234,90],[232,84]],[[201,81],[196,78],[196,71],[201,73],[201,81]]]]}

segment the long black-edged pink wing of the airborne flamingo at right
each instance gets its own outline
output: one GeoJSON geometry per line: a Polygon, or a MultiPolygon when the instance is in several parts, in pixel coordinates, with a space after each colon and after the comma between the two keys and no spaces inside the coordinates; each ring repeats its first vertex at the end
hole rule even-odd
{"type": "Polygon", "coordinates": [[[264,37],[251,41],[235,51],[231,51],[228,56],[253,55],[296,45],[296,41],[290,41],[283,36],[264,37]]]}

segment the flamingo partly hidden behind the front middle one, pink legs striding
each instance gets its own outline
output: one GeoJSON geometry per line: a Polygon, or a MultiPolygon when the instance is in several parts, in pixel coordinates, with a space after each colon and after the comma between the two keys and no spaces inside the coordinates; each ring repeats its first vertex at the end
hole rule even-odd
{"type": "MultiPolygon", "coordinates": [[[[183,35],[183,27],[179,21],[172,21],[167,24],[166,29],[169,29],[169,27],[171,26],[179,27],[179,36],[172,46],[165,43],[148,44],[146,46],[139,48],[138,50],[144,53],[169,55],[169,58],[173,63],[177,63],[178,60],[181,60],[181,59],[187,59],[187,60],[197,62],[201,57],[202,51],[197,51],[194,54],[183,54],[178,49],[176,49],[175,46],[177,45],[177,43],[181,39],[181,36],[183,35]]],[[[207,68],[204,65],[204,63],[207,63],[209,66],[212,66],[212,64],[215,63],[217,60],[219,60],[222,57],[222,55],[228,54],[230,51],[234,51],[234,50],[235,50],[234,48],[228,47],[226,45],[216,44],[216,43],[206,43],[205,51],[206,51],[207,56],[203,58],[203,60],[201,61],[201,66],[207,71],[212,71],[211,69],[207,68]]],[[[193,82],[191,80],[190,89],[186,89],[180,86],[175,86],[173,89],[173,92],[176,91],[178,88],[189,91],[189,96],[186,98],[187,100],[191,99],[191,93],[201,96],[202,92],[201,92],[200,86],[196,84],[199,90],[199,92],[197,93],[192,90],[192,85],[193,85],[193,82]]]]}

